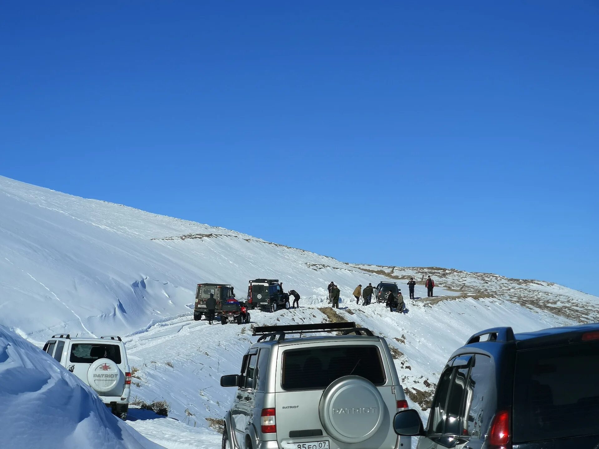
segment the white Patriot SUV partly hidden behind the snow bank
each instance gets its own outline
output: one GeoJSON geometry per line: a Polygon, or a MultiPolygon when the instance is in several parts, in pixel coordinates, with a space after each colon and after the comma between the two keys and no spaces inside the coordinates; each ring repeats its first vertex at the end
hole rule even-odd
{"type": "Polygon", "coordinates": [[[53,335],[44,351],[92,387],[112,412],[125,420],[131,394],[131,370],[125,344],[119,336],[71,338],[53,335]]]}

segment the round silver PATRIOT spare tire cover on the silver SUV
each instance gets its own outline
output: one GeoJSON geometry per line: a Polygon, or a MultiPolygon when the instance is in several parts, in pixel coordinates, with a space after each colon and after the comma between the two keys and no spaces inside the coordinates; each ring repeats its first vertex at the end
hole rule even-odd
{"type": "Polygon", "coordinates": [[[373,436],[383,423],[385,410],[379,390],[359,376],[335,380],[322,393],[319,404],[322,426],[344,443],[359,443],[373,436]]]}

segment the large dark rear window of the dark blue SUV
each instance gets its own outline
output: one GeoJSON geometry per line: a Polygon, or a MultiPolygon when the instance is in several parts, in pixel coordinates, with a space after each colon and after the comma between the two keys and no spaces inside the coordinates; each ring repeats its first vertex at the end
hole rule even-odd
{"type": "Polygon", "coordinates": [[[519,351],[514,441],[597,433],[599,342],[519,351]]]}

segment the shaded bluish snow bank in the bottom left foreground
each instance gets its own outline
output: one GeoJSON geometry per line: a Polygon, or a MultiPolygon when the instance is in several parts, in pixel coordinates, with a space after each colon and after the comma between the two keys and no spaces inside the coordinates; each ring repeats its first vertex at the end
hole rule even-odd
{"type": "Polygon", "coordinates": [[[0,447],[155,449],[46,353],[0,326],[0,447]]]}

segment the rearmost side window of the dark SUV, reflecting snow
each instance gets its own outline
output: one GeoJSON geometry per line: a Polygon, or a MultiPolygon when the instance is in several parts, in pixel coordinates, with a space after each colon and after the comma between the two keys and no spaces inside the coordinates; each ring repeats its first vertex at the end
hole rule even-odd
{"type": "Polygon", "coordinates": [[[468,378],[468,396],[464,409],[464,430],[467,435],[485,438],[496,404],[493,373],[491,357],[476,354],[468,378]]]}

